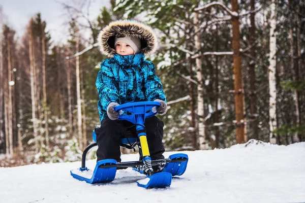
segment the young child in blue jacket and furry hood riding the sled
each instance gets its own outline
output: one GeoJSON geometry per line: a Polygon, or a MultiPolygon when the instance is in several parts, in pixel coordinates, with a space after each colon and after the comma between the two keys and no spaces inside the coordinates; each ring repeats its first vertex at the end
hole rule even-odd
{"type": "MultiPolygon", "coordinates": [[[[166,98],[155,66],[144,60],[144,54],[156,50],[153,30],[140,22],[120,20],[110,23],[98,36],[100,51],[111,58],[101,63],[96,86],[100,100],[98,109],[101,127],[96,129],[97,157],[120,162],[120,139],[133,123],[117,120],[117,105],[130,101],[158,101],[158,114],[167,111],[166,98]]],[[[156,116],[146,118],[145,129],[151,160],[163,159],[163,121],[156,116]]]]}

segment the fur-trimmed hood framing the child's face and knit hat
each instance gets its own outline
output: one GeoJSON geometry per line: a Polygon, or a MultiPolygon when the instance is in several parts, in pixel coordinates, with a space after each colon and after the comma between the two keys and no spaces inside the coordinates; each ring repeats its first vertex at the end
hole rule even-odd
{"type": "Polygon", "coordinates": [[[118,20],[100,31],[98,42],[101,53],[112,57],[115,54],[114,38],[126,35],[141,39],[141,51],[145,55],[152,54],[157,49],[157,37],[151,27],[139,21],[118,20]]]}

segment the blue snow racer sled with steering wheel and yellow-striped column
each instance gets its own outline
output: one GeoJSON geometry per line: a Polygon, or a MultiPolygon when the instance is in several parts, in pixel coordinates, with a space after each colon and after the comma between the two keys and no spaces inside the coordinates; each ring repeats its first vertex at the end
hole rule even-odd
{"type": "MultiPolygon", "coordinates": [[[[170,155],[169,158],[151,160],[144,121],[145,118],[156,115],[156,108],[159,106],[160,103],[157,101],[139,101],[119,105],[114,108],[116,112],[119,112],[119,120],[128,120],[136,124],[137,133],[131,134],[130,137],[128,133],[131,133],[131,131],[128,131],[126,138],[121,139],[120,146],[134,150],[135,147],[138,146],[140,154],[139,161],[117,163],[114,159],[104,159],[97,162],[94,171],[88,170],[85,166],[86,154],[91,148],[97,146],[97,135],[95,131],[93,131],[93,140],[95,143],[92,143],[85,148],[82,154],[81,167],[71,170],[71,175],[80,181],[86,181],[91,184],[107,183],[114,180],[117,169],[132,167],[133,170],[147,176],[146,179],[137,182],[138,186],[144,188],[169,187],[172,176],[180,176],[185,173],[188,164],[188,155],[178,153],[170,155]],[[153,109],[155,109],[155,111],[153,109]],[[165,165],[163,171],[155,173],[153,166],[161,165],[165,165]]],[[[96,126],[96,128],[97,127],[99,126],[96,126]]]]}

